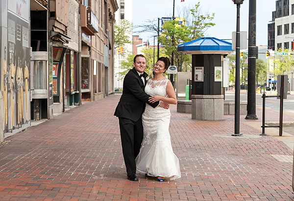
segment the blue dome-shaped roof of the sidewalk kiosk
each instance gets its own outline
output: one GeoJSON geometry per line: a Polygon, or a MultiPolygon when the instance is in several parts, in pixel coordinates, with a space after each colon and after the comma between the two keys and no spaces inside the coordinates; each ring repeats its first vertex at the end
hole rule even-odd
{"type": "Polygon", "coordinates": [[[181,51],[234,51],[232,44],[213,37],[202,37],[177,46],[181,51]]]}

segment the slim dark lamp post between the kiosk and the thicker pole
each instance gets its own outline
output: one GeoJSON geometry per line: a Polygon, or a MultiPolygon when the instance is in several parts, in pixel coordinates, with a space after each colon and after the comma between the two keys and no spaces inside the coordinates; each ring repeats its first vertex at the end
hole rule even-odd
{"type": "Polygon", "coordinates": [[[240,5],[244,0],[233,0],[237,4],[236,31],[236,79],[235,79],[235,132],[233,136],[240,136],[240,5]]]}

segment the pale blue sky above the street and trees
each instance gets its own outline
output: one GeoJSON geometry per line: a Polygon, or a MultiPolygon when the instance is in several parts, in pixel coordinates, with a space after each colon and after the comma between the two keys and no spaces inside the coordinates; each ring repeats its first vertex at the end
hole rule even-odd
{"type": "MultiPolygon", "coordinates": [[[[162,17],[172,17],[173,0],[133,0],[133,24],[144,24],[147,19],[153,20],[162,17]]],[[[237,5],[232,0],[175,0],[175,17],[178,10],[184,6],[194,7],[200,2],[202,13],[215,13],[215,26],[205,32],[205,36],[218,39],[231,39],[232,32],[237,28],[237,5]]],[[[249,0],[244,0],[240,8],[240,31],[247,31],[248,38],[248,7],[249,0]]],[[[256,0],[256,45],[268,45],[268,23],[271,21],[272,11],[275,10],[275,0],[256,0]]],[[[139,34],[146,41],[149,37],[153,44],[154,33],[139,34]]],[[[231,41],[229,41],[231,42],[231,41]]],[[[155,42],[156,43],[156,42],[155,42]]],[[[248,43],[248,42],[247,42],[248,43]]]]}

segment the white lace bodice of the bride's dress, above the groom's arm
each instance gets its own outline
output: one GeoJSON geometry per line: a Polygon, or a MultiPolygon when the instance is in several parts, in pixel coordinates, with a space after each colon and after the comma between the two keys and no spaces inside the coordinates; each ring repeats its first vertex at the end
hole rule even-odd
{"type": "Polygon", "coordinates": [[[166,97],[168,82],[169,82],[169,79],[164,79],[159,81],[149,79],[145,87],[145,92],[151,96],[160,95],[160,96],[166,97]]]}

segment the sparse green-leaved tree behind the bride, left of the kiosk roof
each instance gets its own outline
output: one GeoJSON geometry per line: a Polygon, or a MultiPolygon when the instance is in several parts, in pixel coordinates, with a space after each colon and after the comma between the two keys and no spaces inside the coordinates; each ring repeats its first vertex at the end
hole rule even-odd
{"type": "MultiPolygon", "coordinates": [[[[162,46],[165,46],[166,48],[166,54],[171,57],[172,52],[174,53],[174,63],[178,67],[178,70],[181,66],[181,53],[177,51],[178,43],[188,42],[202,37],[209,27],[215,25],[215,23],[211,22],[214,19],[215,14],[202,14],[200,2],[198,2],[195,6],[190,5],[189,7],[190,8],[186,7],[183,9],[183,14],[181,16],[186,18],[185,25],[179,25],[178,21],[175,20],[165,22],[162,27],[164,31],[159,38],[162,46]]],[[[137,32],[151,32],[153,34],[157,34],[157,23],[157,19],[147,20],[143,25],[136,26],[136,28],[140,28],[137,32]]],[[[191,61],[190,56],[182,55],[182,63],[186,63],[188,61],[191,61]]],[[[185,67],[188,67],[188,65],[185,67]]],[[[189,69],[189,67],[187,69],[189,69]]]]}

